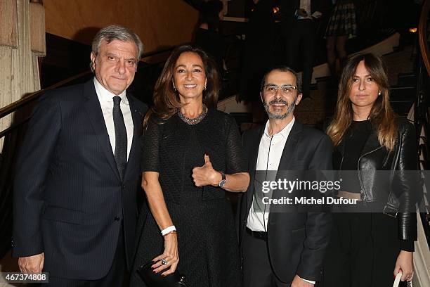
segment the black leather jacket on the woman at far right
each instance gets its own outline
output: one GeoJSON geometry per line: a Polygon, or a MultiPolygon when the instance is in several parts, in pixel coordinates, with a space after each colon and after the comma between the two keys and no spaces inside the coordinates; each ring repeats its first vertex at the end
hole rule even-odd
{"type": "MultiPolygon", "coordinates": [[[[398,136],[393,151],[389,152],[379,144],[376,132],[372,132],[365,143],[357,164],[361,187],[360,196],[366,203],[376,201],[386,203],[384,213],[398,217],[398,238],[416,241],[417,217],[415,212],[402,212],[415,210],[417,200],[415,187],[419,177],[415,173],[406,172],[417,170],[415,129],[408,120],[403,118],[398,118],[396,122],[398,136]],[[377,170],[390,172],[376,172],[377,170]],[[390,184],[389,188],[386,184],[390,184]],[[393,186],[396,188],[392,188],[393,186]]],[[[344,142],[334,148],[334,170],[341,170],[344,149],[344,142]]]]}

